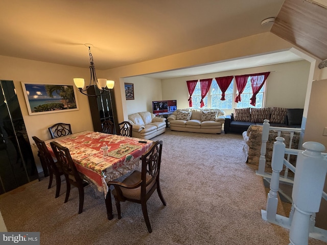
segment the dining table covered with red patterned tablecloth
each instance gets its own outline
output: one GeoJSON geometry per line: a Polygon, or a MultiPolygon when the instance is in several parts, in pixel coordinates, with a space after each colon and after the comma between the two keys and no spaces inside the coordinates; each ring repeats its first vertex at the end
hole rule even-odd
{"type": "Polygon", "coordinates": [[[77,170],[104,193],[108,219],[113,218],[113,213],[107,182],[135,169],[141,162],[141,156],[153,143],[152,140],[83,131],[44,141],[53,157],[50,145],[53,141],[68,148],[77,170]]]}

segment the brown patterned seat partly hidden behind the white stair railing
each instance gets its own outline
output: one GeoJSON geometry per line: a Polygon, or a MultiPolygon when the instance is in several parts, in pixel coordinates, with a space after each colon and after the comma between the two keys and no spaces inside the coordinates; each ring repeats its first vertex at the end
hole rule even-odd
{"type": "MultiPolygon", "coordinates": [[[[261,154],[261,144],[262,144],[262,129],[261,125],[251,125],[247,131],[244,131],[242,136],[244,139],[243,151],[247,156],[247,163],[259,165],[260,154],[261,154]]],[[[271,157],[273,150],[273,143],[276,141],[275,138],[278,136],[278,131],[269,130],[268,141],[266,143],[266,171],[271,172],[271,157]],[[268,170],[267,170],[268,168],[268,170]]],[[[289,143],[291,139],[291,132],[281,131],[281,136],[285,139],[284,143],[286,148],[289,148],[289,143]]],[[[298,149],[300,139],[300,133],[294,132],[292,138],[291,149],[298,149]]],[[[290,162],[296,162],[296,156],[290,156],[290,162]]]]}

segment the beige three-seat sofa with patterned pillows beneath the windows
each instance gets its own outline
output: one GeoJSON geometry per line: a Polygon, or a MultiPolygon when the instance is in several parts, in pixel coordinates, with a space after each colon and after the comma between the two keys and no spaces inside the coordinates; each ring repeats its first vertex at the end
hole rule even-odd
{"type": "Polygon", "coordinates": [[[173,131],[220,134],[225,112],[219,109],[178,109],[167,120],[173,131]]]}

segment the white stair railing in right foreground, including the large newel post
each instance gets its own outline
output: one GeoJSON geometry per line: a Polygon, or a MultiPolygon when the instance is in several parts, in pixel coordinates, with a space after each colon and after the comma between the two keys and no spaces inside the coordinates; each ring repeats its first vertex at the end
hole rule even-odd
{"type": "Polygon", "coordinates": [[[270,223],[290,229],[289,245],[308,244],[308,237],[327,242],[327,231],[315,227],[315,213],[319,211],[321,197],[326,199],[323,185],[327,171],[325,147],[318,142],[303,143],[305,151],[286,149],[284,138],[276,137],[272,153],[272,175],[266,210],[262,218],[270,223]],[[296,168],[284,159],[285,154],[297,155],[296,168]],[[294,171],[293,204],[289,217],[277,214],[279,173],[283,164],[294,171]],[[296,170],[296,171],[295,171],[296,170]],[[312,180],[315,181],[312,181],[312,180]]]}

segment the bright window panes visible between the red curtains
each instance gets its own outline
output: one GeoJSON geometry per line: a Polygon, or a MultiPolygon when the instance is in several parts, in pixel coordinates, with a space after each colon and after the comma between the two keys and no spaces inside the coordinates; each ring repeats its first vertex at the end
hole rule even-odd
{"type": "MultiPolygon", "coordinates": [[[[264,104],[264,93],[265,93],[266,84],[261,88],[259,93],[256,95],[256,104],[255,108],[262,108],[264,104]]],[[[250,98],[252,97],[252,88],[251,88],[251,78],[248,78],[246,83],[246,87],[241,94],[242,101],[239,103],[235,102],[235,97],[237,95],[236,83],[235,79],[229,85],[227,91],[225,92],[225,101],[221,101],[221,90],[216,82],[216,79],[213,79],[211,84],[211,88],[208,94],[203,99],[204,107],[202,108],[218,108],[222,110],[231,110],[232,108],[246,108],[253,106],[250,105],[250,98]]],[[[201,89],[200,82],[196,84],[194,93],[192,95],[193,107],[192,108],[200,108],[201,101],[201,89]]]]}

